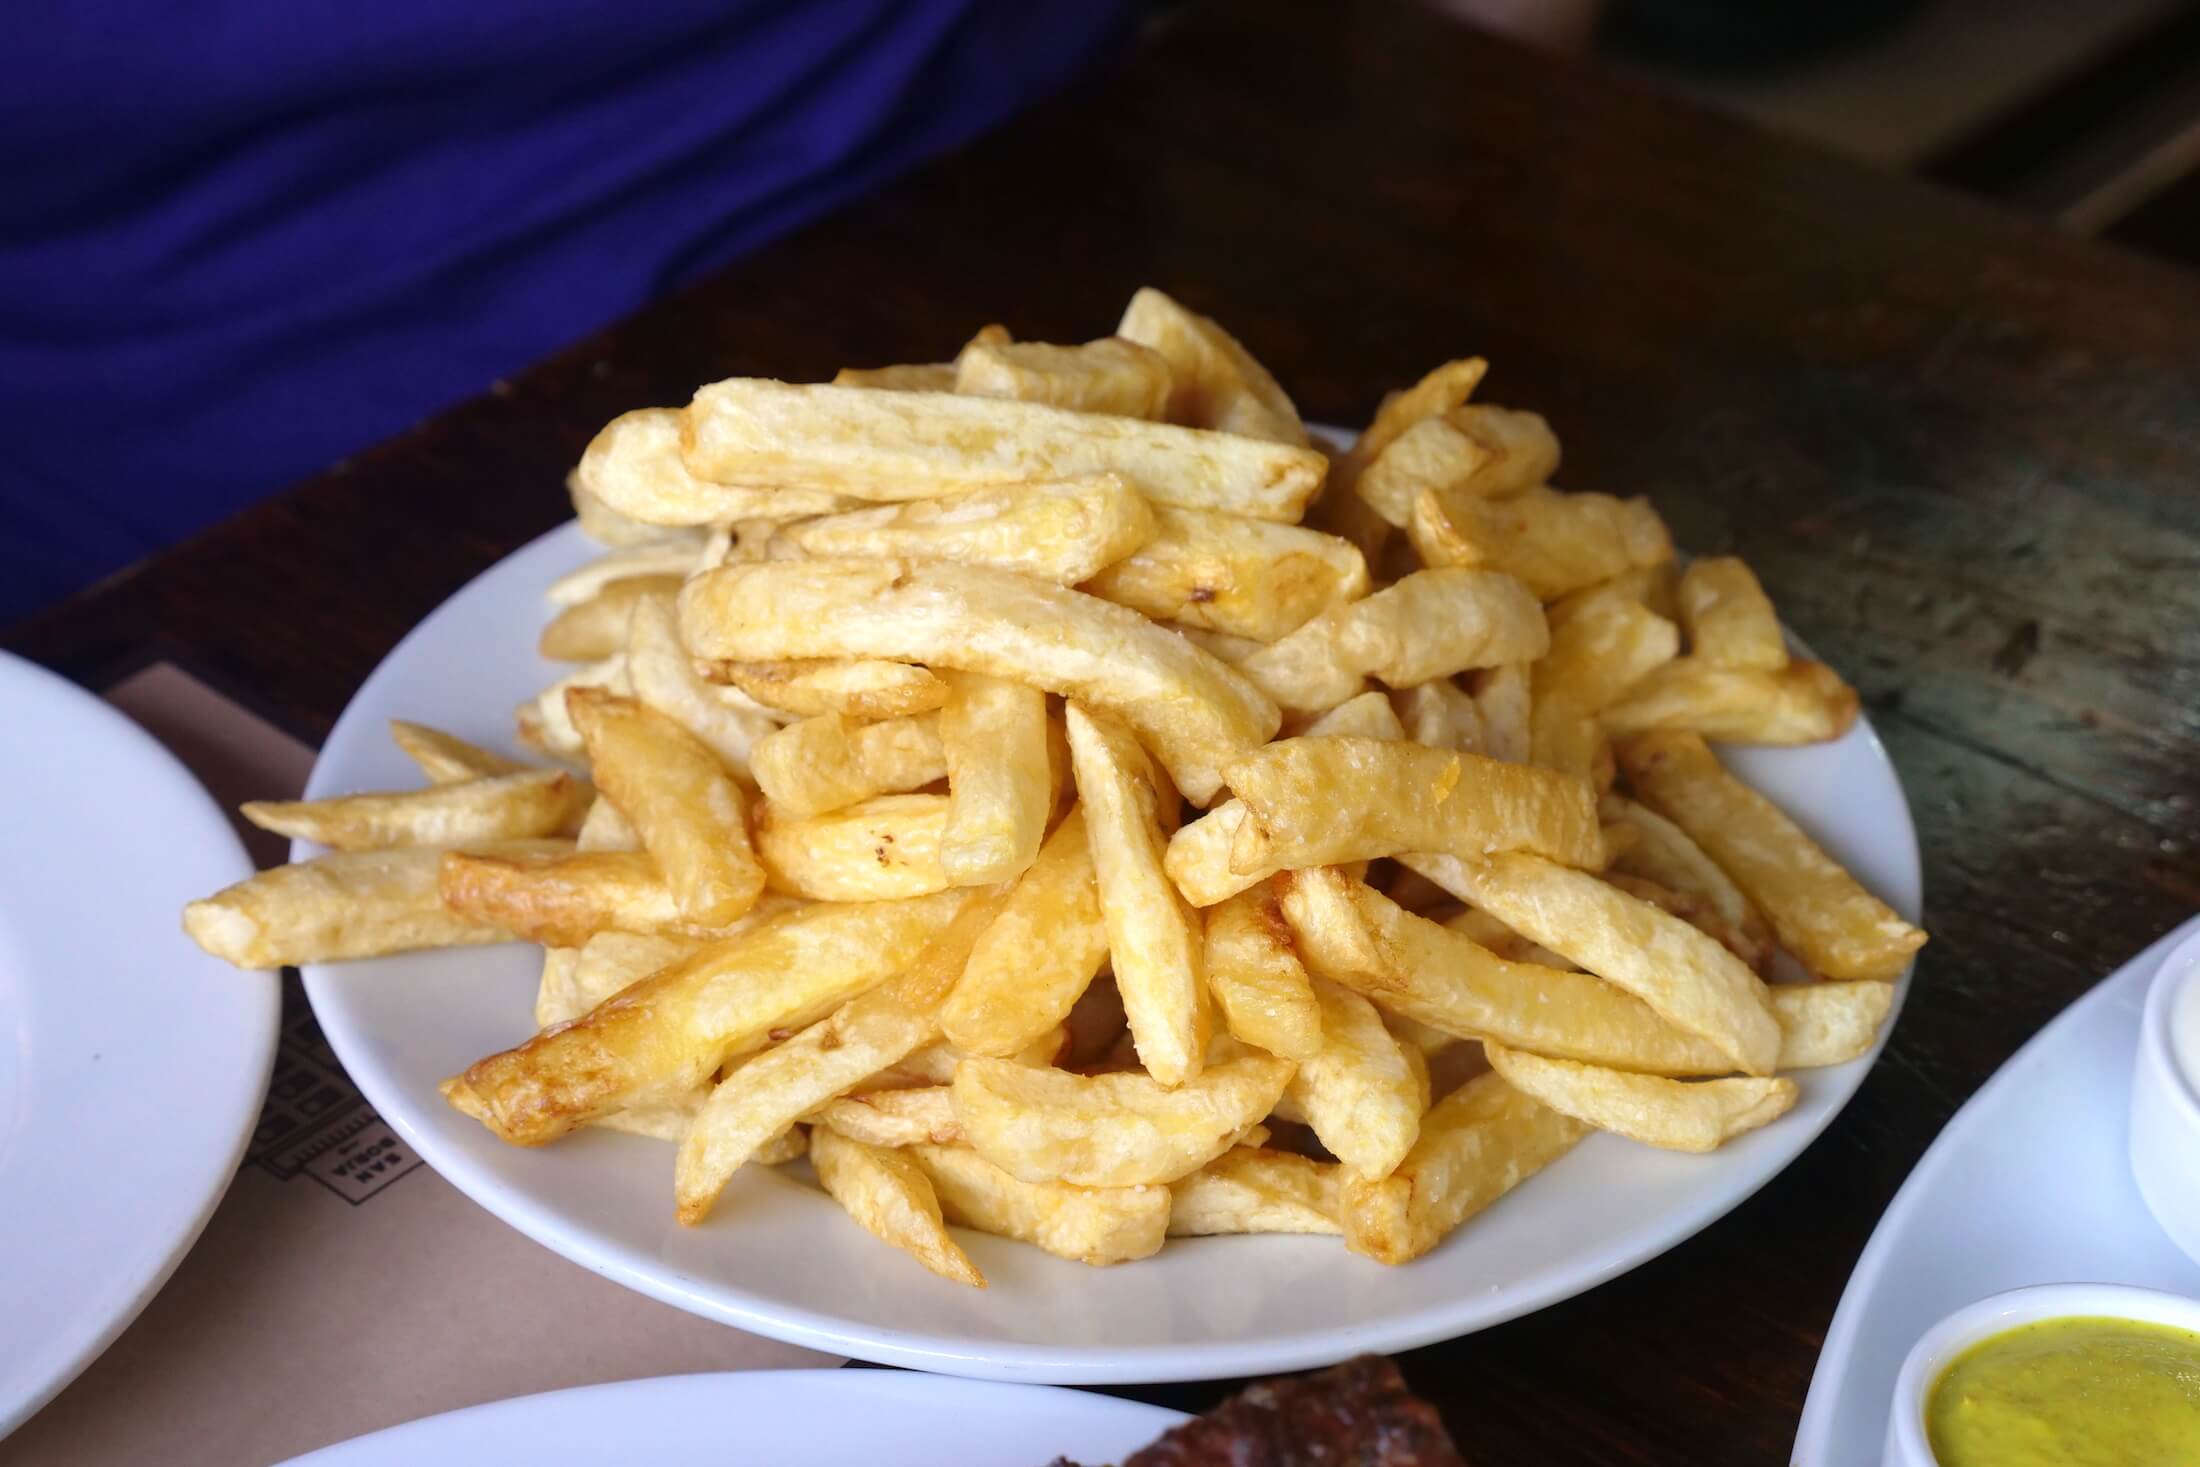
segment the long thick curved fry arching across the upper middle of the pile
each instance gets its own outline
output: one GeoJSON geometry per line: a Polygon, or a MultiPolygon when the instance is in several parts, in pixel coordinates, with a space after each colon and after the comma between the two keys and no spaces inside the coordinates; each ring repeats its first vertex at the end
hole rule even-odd
{"type": "Polygon", "coordinates": [[[1283,721],[1208,653],[1098,596],[979,565],[781,561],[724,565],[682,592],[706,658],[915,658],[1120,713],[1192,801],[1283,721]]]}

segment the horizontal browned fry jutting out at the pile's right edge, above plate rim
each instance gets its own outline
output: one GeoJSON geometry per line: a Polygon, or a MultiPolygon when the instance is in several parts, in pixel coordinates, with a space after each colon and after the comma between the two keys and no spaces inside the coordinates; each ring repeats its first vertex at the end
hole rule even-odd
{"type": "Polygon", "coordinates": [[[1824,662],[1778,673],[1674,658],[1604,710],[1619,735],[1685,728],[1725,743],[1824,743],[1857,721],[1857,691],[1824,662]]]}

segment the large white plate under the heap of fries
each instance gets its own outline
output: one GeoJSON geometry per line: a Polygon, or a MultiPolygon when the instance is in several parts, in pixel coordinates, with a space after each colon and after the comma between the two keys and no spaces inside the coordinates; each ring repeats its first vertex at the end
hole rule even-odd
{"type": "MultiPolygon", "coordinates": [[[[425,620],[359,688],[310,790],[407,787],[389,746],[409,717],[506,748],[510,710],[559,669],[532,653],[543,587],[594,554],[552,530],[425,620]]],[[[1918,853],[1901,785],[1870,728],[1806,750],[1731,750],[1734,768],[1914,917],[1918,853]]],[[[1802,1102],[1709,1157],[1591,1137],[1406,1269],[1335,1238],[1190,1238],[1087,1269],[964,1236],[992,1289],[933,1278],[829,1199],[746,1168],[704,1227],[673,1223],[671,1150],[590,1133],[504,1146],[442,1104],[436,1082],[532,1032],[539,957],[475,948],[306,970],[328,1040],[429,1166],[530,1238],[667,1302],[818,1350],[1019,1381],[1269,1375],[1401,1350],[1571,1298],[1712,1223],[1833,1119],[1870,1060],[1800,1076],[1802,1102]]]]}

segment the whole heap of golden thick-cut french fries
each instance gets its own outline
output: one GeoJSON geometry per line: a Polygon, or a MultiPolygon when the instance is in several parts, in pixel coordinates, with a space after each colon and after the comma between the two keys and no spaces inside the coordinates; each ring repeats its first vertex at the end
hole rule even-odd
{"type": "Polygon", "coordinates": [[[572,477],[576,666],[519,708],[552,763],[398,724],[429,787],[249,805],[330,853],[185,926],[246,968],[537,941],[539,1032],[449,1104],[673,1141],[684,1223],[807,1157],[968,1284],[948,1221],[1406,1262],[1588,1130],[1712,1150],[1925,941],[1707,743],[1857,697],[1481,376],[1333,455],[1140,290],[1085,345],[627,413],[572,477]]]}

